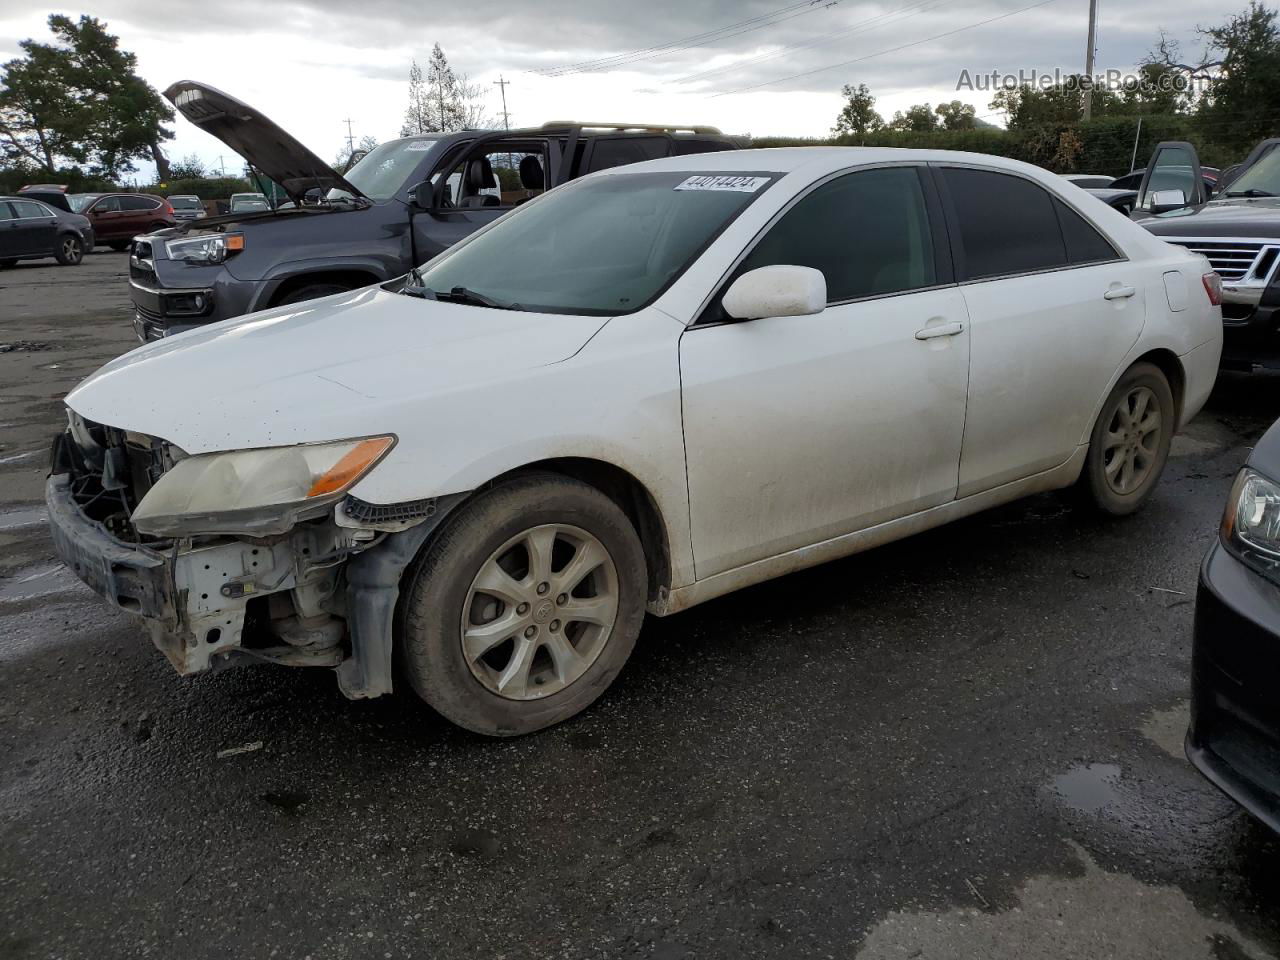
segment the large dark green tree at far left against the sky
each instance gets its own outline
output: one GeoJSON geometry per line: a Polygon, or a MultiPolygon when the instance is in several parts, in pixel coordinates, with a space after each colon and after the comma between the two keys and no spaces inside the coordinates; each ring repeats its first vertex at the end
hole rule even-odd
{"type": "Polygon", "coordinates": [[[161,143],[173,109],[137,76],[137,56],[95,17],[52,14],[54,44],[24,40],[23,56],[4,65],[0,136],[5,152],[50,173],[59,160],[91,164],[104,178],[150,159],[161,180],[169,164],[161,143]]]}

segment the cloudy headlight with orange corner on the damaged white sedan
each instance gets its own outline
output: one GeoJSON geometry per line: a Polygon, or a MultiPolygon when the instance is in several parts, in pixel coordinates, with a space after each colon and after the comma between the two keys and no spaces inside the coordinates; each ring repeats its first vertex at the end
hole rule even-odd
{"type": "Polygon", "coordinates": [[[142,498],[133,525],[154,536],[283,534],[324,513],[394,444],[369,436],[187,457],[142,498]]]}

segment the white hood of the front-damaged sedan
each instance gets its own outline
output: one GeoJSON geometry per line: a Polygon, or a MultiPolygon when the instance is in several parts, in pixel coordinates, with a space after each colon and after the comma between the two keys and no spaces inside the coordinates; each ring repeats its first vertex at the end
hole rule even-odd
{"type": "Polygon", "coordinates": [[[188,453],[396,433],[461,415],[449,394],[572,357],[607,321],[366,287],[146,344],[81,383],[67,406],[188,453]],[[443,408],[424,406],[440,398],[443,408]]]}

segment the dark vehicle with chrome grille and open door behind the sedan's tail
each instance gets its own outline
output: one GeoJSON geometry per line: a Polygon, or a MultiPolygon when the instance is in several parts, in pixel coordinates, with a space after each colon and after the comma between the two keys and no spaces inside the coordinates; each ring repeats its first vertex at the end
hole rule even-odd
{"type": "Polygon", "coordinates": [[[1157,145],[1134,216],[1202,253],[1222,278],[1222,365],[1280,369],[1280,140],[1260,143],[1224,191],[1203,186],[1196,147],[1157,145]],[[1201,186],[1197,186],[1201,184],[1201,186]]]}

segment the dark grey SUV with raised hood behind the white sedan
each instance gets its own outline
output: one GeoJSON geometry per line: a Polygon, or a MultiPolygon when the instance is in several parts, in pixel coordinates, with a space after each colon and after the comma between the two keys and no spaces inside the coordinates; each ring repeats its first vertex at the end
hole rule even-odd
{"type": "Polygon", "coordinates": [[[545,189],[594,170],[745,145],[713,127],[557,122],[394,140],[342,175],[212,87],[183,81],[165,96],[289,200],[134,241],[129,282],[141,339],[401,276],[545,189]]]}

